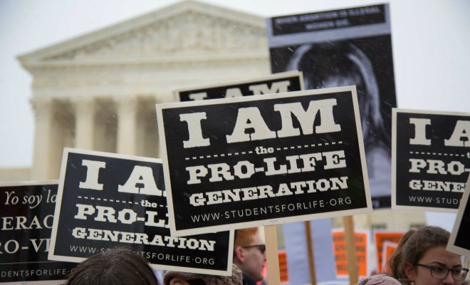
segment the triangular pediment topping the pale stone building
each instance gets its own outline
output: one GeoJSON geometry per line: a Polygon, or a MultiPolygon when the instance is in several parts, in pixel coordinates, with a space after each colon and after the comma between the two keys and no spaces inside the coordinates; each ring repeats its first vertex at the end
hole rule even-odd
{"type": "Polygon", "coordinates": [[[267,53],[265,21],[197,1],[182,1],[110,28],[20,56],[23,66],[267,53]]]}

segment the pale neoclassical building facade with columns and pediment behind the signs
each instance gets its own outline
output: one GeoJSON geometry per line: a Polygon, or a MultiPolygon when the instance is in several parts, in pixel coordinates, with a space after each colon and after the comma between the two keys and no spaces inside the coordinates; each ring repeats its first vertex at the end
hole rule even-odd
{"type": "Polygon", "coordinates": [[[270,73],[263,18],[197,1],[19,61],[33,76],[33,180],[58,178],[63,147],[160,157],[155,103],[177,88],[270,73]]]}

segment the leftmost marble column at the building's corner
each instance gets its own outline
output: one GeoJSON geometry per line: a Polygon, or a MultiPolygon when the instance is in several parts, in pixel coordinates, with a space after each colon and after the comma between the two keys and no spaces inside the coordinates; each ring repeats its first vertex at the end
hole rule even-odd
{"type": "Polygon", "coordinates": [[[53,132],[53,100],[51,98],[31,99],[36,125],[34,130],[33,167],[31,180],[58,179],[53,172],[51,157],[55,145],[53,132]]]}

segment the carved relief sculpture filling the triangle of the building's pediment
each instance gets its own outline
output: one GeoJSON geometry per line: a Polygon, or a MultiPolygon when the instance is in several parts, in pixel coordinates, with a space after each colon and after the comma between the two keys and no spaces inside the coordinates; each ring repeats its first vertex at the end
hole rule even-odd
{"type": "Polygon", "coordinates": [[[169,54],[256,51],[266,49],[264,28],[223,17],[185,11],[83,48],[46,58],[78,60],[93,58],[142,58],[169,54]]]}

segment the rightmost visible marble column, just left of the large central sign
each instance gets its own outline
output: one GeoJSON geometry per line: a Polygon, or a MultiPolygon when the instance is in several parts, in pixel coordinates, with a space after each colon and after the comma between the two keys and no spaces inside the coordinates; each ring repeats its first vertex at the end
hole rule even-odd
{"type": "Polygon", "coordinates": [[[136,155],[137,98],[115,98],[117,110],[117,153],[136,155]]]}

